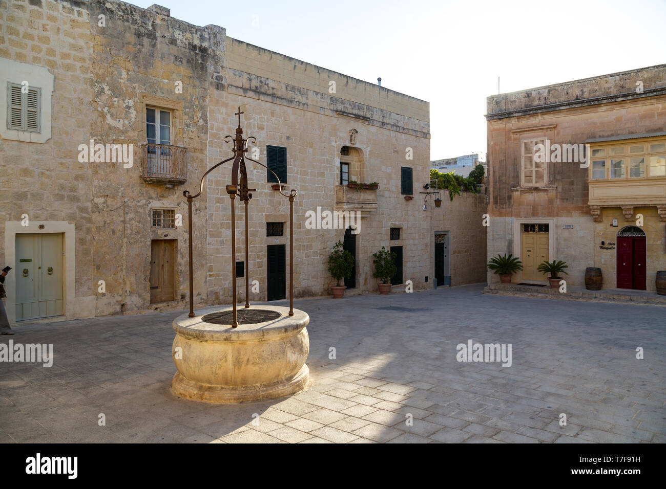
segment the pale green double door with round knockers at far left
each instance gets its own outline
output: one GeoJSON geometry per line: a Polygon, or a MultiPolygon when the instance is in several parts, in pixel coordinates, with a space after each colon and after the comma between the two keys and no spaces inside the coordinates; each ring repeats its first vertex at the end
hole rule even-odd
{"type": "Polygon", "coordinates": [[[16,235],[16,320],[63,314],[63,235],[16,235]]]}

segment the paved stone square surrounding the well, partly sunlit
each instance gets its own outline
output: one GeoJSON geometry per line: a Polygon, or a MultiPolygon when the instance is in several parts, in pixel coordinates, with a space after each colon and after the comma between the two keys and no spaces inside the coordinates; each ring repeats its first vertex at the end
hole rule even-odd
{"type": "Polygon", "coordinates": [[[242,405],[170,393],[182,312],[19,325],[0,342],[53,343],[54,360],[0,364],[0,441],[666,442],[664,307],[483,287],[294,301],[312,386],[242,405]],[[470,339],[511,343],[511,367],[456,361],[470,339]]]}

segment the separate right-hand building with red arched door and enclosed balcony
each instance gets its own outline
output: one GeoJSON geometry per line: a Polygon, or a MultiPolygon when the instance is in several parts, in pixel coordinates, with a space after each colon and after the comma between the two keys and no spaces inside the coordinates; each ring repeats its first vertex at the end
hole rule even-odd
{"type": "MultiPolygon", "coordinates": [[[[488,257],[514,282],[567,284],[599,267],[604,289],[655,291],[666,269],[666,65],[488,97],[488,257]]],[[[499,281],[488,273],[488,283],[499,281]]]]}

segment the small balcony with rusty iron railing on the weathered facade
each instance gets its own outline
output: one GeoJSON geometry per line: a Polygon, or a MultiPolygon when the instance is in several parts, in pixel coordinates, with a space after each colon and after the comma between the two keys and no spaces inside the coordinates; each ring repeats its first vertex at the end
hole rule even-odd
{"type": "Polygon", "coordinates": [[[187,148],[170,144],[145,144],[141,178],[148,183],[184,184],[187,181],[187,148]]]}

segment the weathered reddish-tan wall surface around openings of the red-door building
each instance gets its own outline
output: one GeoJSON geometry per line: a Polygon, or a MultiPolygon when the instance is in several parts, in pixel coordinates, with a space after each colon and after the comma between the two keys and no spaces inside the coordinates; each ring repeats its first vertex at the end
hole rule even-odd
{"type": "MultiPolygon", "coordinates": [[[[498,253],[519,255],[517,223],[548,218],[553,234],[549,260],[567,261],[567,283],[584,285],[585,267],[598,267],[603,261],[597,249],[599,224],[593,222],[587,205],[589,170],[579,162],[548,162],[546,186],[521,188],[521,140],[539,137],[556,144],[584,144],[597,138],[663,131],[666,95],[660,90],[665,75],[666,66],[659,65],[488,97],[489,258],[498,253]],[[643,93],[637,93],[636,81],[644,82],[643,93]],[[573,224],[573,229],[563,229],[563,224],[573,224]]],[[[608,228],[607,216],[612,213],[608,209],[603,213],[603,226],[608,228]]],[[[655,213],[652,208],[649,215],[655,213]]],[[[663,226],[658,228],[653,249],[663,240],[663,226]]],[[[615,233],[617,229],[613,228],[615,233]]],[[[648,255],[648,264],[650,272],[663,266],[663,253],[648,255]]],[[[603,273],[604,288],[615,288],[614,269],[608,280],[607,272],[603,273]]],[[[520,280],[520,273],[514,275],[513,281],[520,280]]],[[[491,281],[499,277],[489,271],[491,281]]],[[[647,281],[650,290],[650,276],[647,281]]]]}

